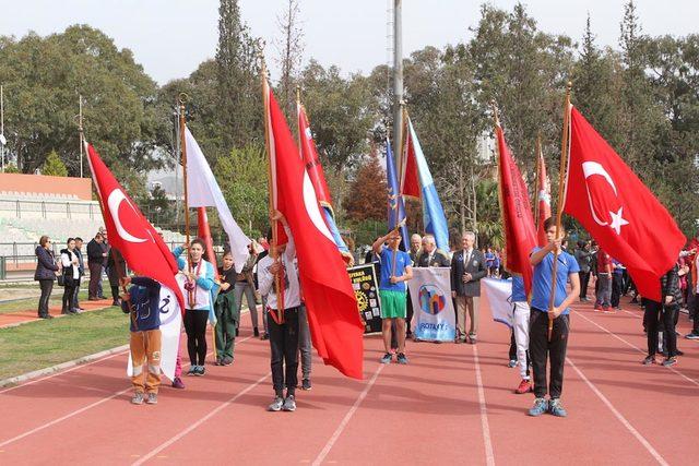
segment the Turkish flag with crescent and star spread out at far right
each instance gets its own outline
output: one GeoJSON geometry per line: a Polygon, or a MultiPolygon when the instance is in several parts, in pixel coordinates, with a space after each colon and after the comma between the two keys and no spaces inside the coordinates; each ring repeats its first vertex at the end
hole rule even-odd
{"type": "Polygon", "coordinates": [[[660,277],[686,242],[674,218],[572,106],[568,160],[564,212],[626,265],[643,297],[661,301],[660,277]]]}

